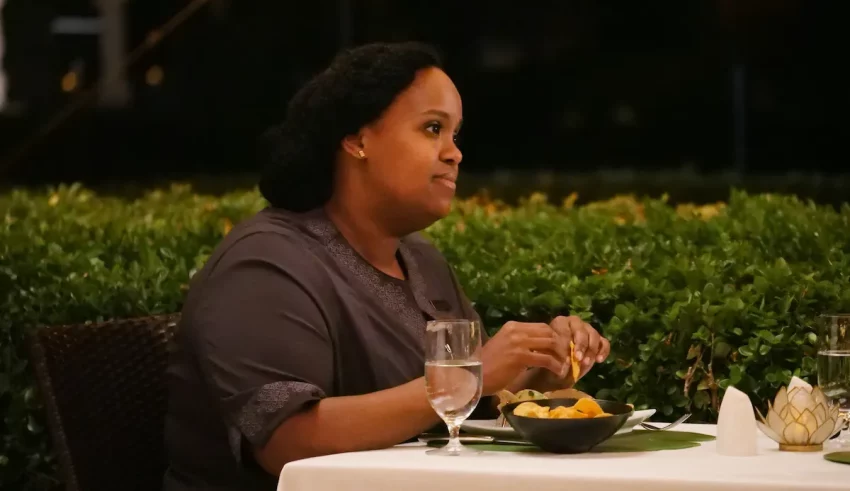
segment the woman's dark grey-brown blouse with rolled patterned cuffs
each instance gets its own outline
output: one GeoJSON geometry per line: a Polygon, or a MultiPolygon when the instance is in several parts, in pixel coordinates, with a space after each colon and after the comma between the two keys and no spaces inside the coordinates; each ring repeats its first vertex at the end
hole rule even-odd
{"type": "Polygon", "coordinates": [[[407,281],[364,260],[321,210],[267,208],[235,227],[183,308],[166,491],[274,490],[252,446],[309,403],[421,377],[427,320],[479,320],[424,238],[404,238],[399,259],[407,281]]]}

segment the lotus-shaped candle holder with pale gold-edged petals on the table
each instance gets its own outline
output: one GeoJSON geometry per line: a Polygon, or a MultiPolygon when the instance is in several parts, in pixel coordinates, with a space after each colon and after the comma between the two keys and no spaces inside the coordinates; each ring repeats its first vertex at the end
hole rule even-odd
{"type": "Polygon", "coordinates": [[[820,387],[799,379],[779,389],[768,407],[766,418],[756,408],[761,420],[756,423],[782,451],[819,452],[844,423],[838,404],[831,404],[820,387]]]}

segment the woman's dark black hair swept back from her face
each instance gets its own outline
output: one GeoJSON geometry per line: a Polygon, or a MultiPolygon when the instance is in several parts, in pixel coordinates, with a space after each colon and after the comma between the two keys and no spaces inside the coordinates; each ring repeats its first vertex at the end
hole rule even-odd
{"type": "Polygon", "coordinates": [[[294,212],[324,205],[343,138],[378,119],[417,72],[430,67],[442,67],[439,54],[414,42],[367,44],[338,54],[293,96],[283,123],[263,135],[263,197],[294,212]]]}

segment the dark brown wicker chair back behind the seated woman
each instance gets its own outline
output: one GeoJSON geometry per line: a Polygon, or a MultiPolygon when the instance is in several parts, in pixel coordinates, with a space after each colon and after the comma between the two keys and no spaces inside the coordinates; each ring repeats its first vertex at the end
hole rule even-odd
{"type": "Polygon", "coordinates": [[[45,327],[31,338],[69,491],[160,490],[165,370],[179,314],[45,327]]]}

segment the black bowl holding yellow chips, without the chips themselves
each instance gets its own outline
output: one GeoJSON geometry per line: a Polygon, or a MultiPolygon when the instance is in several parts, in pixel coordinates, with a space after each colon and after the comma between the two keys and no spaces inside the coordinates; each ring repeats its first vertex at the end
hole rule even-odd
{"type": "Polygon", "coordinates": [[[628,404],[594,399],[611,416],[584,419],[539,419],[514,415],[514,409],[523,402],[554,409],[572,406],[578,399],[543,399],[539,401],[512,402],[502,407],[502,414],[511,426],[529,442],[552,453],[582,453],[614,436],[634,413],[628,404]]]}

